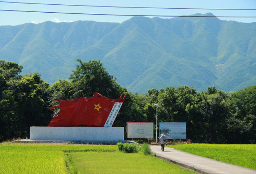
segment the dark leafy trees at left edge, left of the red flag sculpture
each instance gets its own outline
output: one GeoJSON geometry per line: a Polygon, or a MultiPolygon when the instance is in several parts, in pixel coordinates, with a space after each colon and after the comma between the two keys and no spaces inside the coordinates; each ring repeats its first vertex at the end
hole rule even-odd
{"type": "Polygon", "coordinates": [[[31,126],[47,126],[49,84],[38,73],[19,76],[22,66],[0,61],[0,141],[29,136],[31,126]]]}

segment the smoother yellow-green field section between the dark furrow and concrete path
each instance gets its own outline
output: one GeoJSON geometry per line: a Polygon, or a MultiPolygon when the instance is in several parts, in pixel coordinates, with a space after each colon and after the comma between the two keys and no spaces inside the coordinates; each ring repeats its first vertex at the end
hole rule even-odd
{"type": "MultiPolygon", "coordinates": [[[[76,152],[69,153],[69,157],[73,159],[79,174],[194,173],[142,153],[123,153],[121,151],[110,153],[76,152]]],[[[71,171],[71,173],[73,172],[71,171]]]]}

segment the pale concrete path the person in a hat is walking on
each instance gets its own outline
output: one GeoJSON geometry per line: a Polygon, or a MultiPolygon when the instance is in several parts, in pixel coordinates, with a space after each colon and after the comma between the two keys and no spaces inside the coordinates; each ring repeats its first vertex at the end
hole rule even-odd
{"type": "Polygon", "coordinates": [[[156,153],[157,157],[185,168],[195,170],[201,174],[256,174],[256,170],[200,157],[173,148],[165,147],[163,152],[161,151],[160,146],[150,146],[150,148],[156,153]]]}

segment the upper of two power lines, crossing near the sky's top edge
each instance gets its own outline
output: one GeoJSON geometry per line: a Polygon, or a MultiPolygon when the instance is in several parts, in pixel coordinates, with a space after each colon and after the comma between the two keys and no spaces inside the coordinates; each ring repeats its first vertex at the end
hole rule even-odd
{"type": "Polygon", "coordinates": [[[43,4],[32,2],[8,2],[0,1],[3,3],[14,4],[34,4],[34,5],[52,5],[52,6],[78,6],[78,7],[103,7],[103,8],[147,8],[147,9],[199,9],[199,10],[256,10],[256,9],[230,9],[230,8],[166,8],[166,7],[129,7],[129,6],[89,6],[89,5],[72,5],[72,4],[43,4]]]}

